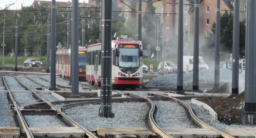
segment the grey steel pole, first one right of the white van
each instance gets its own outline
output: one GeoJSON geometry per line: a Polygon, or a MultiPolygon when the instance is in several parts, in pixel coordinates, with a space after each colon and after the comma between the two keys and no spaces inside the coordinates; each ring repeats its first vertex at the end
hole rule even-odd
{"type": "Polygon", "coordinates": [[[216,30],[215,30],[215,72],[214,88],[219,88],[219,47],[220,47],[220,0],[216,4],[216,30]]]}

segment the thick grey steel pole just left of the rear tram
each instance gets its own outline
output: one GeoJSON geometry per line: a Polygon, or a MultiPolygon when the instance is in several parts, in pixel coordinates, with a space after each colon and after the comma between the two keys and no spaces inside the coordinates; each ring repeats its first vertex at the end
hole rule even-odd
{"type": "Polygon", "coordinates": [[[56,0],[52,0],[51,87],[56,88],[56,0]]]}

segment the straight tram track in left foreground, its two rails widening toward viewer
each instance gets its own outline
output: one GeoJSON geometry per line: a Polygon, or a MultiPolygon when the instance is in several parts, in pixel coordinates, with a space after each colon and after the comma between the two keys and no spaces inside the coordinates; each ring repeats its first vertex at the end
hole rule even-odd
{"type": "MultiPolygon", "coordinates": [[[[15,77],[15,76],[13,76],[13,77],[15,77]]],[[[12,100],[12,102],[14,103],[14,106],[16,108],[15,110],[13,110],[13,112],[16,113],[16,115],[19,116],[18,120],[19,120],[19,122],[21,122],[22,130],[26,133],[27,137],[33,138],[33,134],[30,131],[29,125],[27,124],[26,119],[28,119],[28,118],[24,117],[25,115],[29,115],[29,116],[31,116],[31,115],[36,115],[36,116],[37,115],[55,115],[56,119],[59,118],[62,122],[66,122],[64,124],[81,129],[84,132],[86,137],[96,137],[90,131],[88,131],[84,128],[80,128],[78,123],[72,122],[68,118],[63,117],[63,115],[65,115],[65,114],[62,113],[60,110],[58,110],[49,101],[45,100],[39,94],[37,94],[35,91],[31,90],[29,87],[27,87],[26,85],[21,83],[17,78],[16,78],[16,80],[20,83],[20,85],[25,87],[27,90],[29,90],[31,93],[33,93],[35,95],[35,97],[37,97],[40,101],[42,101],[40,103],[34,103],[34,105],[36,105],[36,106],[30,106],[30,107],[26,107],[26,108],[24,108],[24,106],[19,107],[16,104],[15,98],[12,96],[12,92],[9,89],[9,87],[8,87],[7,83],[5,82],[5,79],[3,77],[3,81],[5,82],[5,87],[9,91],[9,95],[11,97],[10,99],[12,100]]],[[[56,124],[52,123],[52,121],[50,121],[48,123],[45,123],[45,120],[41,124],[39,124],[39,126],[40,125],[48,126],[48,127],[49,126],[56,126],[56,124]]],[[[36,126],[38,126],[38,125],[36,125],[36,126]]],[[[59,127],[59,125],[57,125],[57,126],[59,127]]]]}

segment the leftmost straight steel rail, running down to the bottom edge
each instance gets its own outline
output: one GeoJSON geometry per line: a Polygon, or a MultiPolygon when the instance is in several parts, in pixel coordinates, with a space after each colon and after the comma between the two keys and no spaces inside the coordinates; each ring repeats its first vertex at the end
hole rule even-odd
{"type": "Polygon", "coordinates": [[[25,118],[23,117],[23,115],[21,114],[21,112],[20,112],[20,110],[19,110],[19,107],[18,107],[16,101],[14,100],[14,97],[12,96],[11,90],[9,89],[9,87],[8,87],[6,81],[5,81],[5,78],[4,78],[2,75],[1,75],[1,77],[2,77],[2,79],[3,79],[3,82],[4,82],[4,85],[5,85],[6,89],[7,89],[8,93],[9,93],[9,95],[10,95],[10,98],[11,98],[11,100],[12,100],[12,103],[13,103],[15,109],[16,109],[16,112],[17,112],[18,118],[20,119],[20,124],[21,124],[21,126],[22,126],[23,131],[25,131],[25,133],[26,133],[26,135],[27,135],[27,138],[34,138],[34,136],[33,136],[33,134],[31,133],[31,131],[30,131],[30,129],[29,129],[27,123],[25,123],[26,120],[25,120],[25,118]]]}

